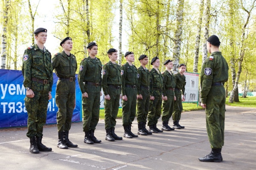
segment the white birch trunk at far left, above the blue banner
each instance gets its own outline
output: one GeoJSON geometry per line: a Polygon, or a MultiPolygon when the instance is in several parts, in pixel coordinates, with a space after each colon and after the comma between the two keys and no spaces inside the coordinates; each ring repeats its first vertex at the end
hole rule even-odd
{"type": "Polygon", "coordinates": [[[2,34],[2,47],[1,47],[1,69],[6,68],[6,34],[7,34],[7,21],[9,12],[9,0],[3,0],[3,34],[2,34]]]}

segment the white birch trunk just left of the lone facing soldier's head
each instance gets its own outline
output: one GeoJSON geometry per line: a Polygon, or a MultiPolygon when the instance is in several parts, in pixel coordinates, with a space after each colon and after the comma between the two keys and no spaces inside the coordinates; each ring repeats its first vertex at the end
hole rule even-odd
{"type": "Polygon", "coordinates": [[[210,23],[210,8],[211,0],[206,0],[204,4],[204,45],[203,45],[203,54],[202,54],[202,63],[207,59],[207,39],[209,38],[209,23],[210,23]]]}

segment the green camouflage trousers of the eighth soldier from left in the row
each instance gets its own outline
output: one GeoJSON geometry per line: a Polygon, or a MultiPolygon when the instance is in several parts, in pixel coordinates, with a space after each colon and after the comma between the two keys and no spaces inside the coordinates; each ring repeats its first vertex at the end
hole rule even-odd
{"type": "Polygon", "coordinates": [[[169,122],[174,106],[174,91],[166,91],[167,100],[163,101],[162,122],[169,122]]]}

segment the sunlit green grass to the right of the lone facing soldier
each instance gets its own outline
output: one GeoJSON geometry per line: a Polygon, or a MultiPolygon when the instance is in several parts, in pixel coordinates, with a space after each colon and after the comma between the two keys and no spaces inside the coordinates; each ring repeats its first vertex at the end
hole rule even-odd
{"type": "Polygon", "coordinates": [[[229,103],[229,97],[226,99],[226,104],[237,107],[256,108],[256,97],[248,96],[246,98],[239,97],[240,102],[229,103]]]}

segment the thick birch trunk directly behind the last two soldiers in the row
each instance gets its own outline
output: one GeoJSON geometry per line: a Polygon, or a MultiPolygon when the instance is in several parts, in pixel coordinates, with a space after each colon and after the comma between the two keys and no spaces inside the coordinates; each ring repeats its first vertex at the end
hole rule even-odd
{"type": "Polygon", "coordinates": [[[178,65],[180,60],[180,45],[181,45],[181,34],[183,24],[183,5],[184,0],[178,0],[177,7],[177,29],[175,31],[175,42],[173,48],[173,72],[178,72],[178,65]]]}

